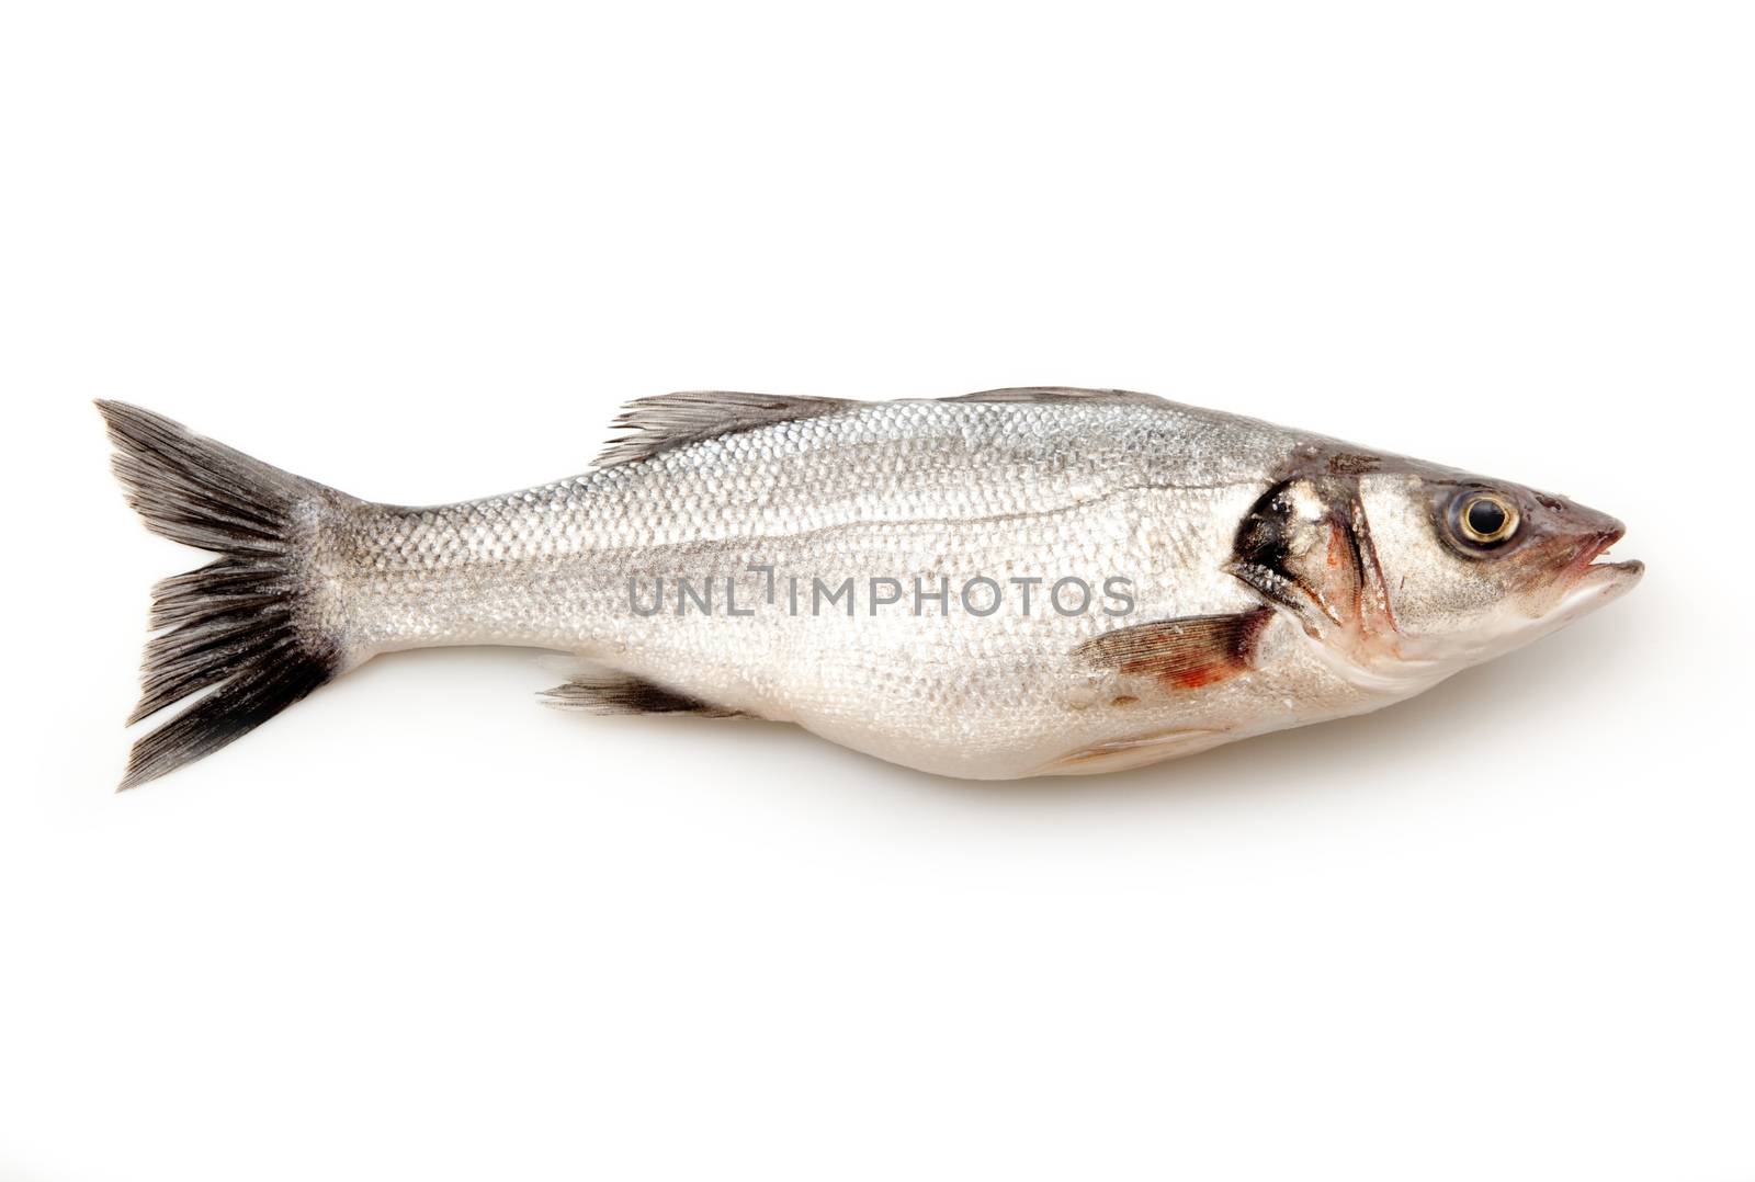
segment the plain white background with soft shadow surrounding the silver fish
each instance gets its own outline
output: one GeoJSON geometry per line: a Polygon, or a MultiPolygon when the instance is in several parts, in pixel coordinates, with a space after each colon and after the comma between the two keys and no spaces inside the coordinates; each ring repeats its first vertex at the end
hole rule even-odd
{"type": "Polygon", "coordinates": [[[0,1178],[1755,1178],[1723,4],[11,4],[0,1178]],[[632,396],[1150,389],[1620,514],[1378,716],[955,784],[376,661],[114,796],[93,396],[351,493],[632,396]]]}

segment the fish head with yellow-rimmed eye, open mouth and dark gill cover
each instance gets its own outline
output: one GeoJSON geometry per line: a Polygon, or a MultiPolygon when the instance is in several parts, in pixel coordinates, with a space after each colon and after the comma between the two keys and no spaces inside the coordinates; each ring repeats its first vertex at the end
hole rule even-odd
{"type": "Polygon", "coordinates": [[[1409,691],[1620,598],[1627,528],[1565,496],[1422,461],[1300,475],[1264,496],[1232,573],[1290,610],[1351,682],[1409,691]]]}

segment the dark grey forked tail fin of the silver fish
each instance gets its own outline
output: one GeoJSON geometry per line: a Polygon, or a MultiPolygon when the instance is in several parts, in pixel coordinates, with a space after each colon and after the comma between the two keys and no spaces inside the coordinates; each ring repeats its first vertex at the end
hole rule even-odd
{"type": "Polygon", "coordinates": [[[351,498],[149,410],[98,410],[146,524],[221,556],[153,587],[156,635],[128,723],[209,693],[135,742],[121,780],[133,787],[247,735],[346,668],[314,610],[311,559],[321,519],[351,498]]]}

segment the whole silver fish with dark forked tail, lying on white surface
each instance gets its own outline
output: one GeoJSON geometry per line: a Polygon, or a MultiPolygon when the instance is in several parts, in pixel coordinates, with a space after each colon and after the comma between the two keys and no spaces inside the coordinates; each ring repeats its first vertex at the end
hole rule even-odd
{"type": "Polygon", "coordinates": [[[751,716],[913,768],[1104,772],[1372,710],[1625,593],[1613,517],[1150,395],[630,403],[586,474],[356,500],[123,403],[154,589],[123,787],[379,652],[574,654],[551,701],[751,716]],[[200,696],[197,696],[200,694],[200,696]]]}

